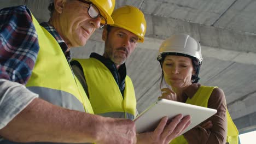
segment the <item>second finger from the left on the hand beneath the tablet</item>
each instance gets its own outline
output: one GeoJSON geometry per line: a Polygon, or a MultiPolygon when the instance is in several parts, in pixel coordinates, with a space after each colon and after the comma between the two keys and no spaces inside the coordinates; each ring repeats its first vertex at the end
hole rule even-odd
{"type": "Polygon", "coordinates": [[[181,114],[174,117],[170,124],[167,125],[167,127],[164,129],[162,133],[162,137],[168,137],[169,135],[173,134],[173,130],[176,128],[177,124],[181,121],[183,116],[181,114]]]}

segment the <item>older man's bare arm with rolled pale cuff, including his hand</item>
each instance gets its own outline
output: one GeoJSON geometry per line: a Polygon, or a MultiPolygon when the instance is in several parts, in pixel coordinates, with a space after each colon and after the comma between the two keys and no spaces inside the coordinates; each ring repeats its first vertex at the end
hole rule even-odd
{"type": "MultiPolygon", "coordinates": [[[[15,142],[114,144],[131,143],[135,139],[135,124],[129,119],[64,109],[29,96],[34,93],[20,83],[4,81],[15,83],[15,86],[0,91],[0,137],[15,142]],[[27,100],[18,103],[22,99],[27,100]]],[[[0,85],[0,90],[4,88],[0,85]]]]}

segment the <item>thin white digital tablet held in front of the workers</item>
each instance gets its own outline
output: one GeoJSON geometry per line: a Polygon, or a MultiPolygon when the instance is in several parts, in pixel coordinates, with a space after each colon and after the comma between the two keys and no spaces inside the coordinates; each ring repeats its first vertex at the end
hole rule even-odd
{"type": "Polygon", "coordinates": [[[190,105],[167,99],[159,99],[149,106],[147,110],[138,115],[133,121],[135,121],[137,133],[143,133],[146,131],[153,131],[158,126],[162,117],[167,116],[168,118],[173,118],[179,113],[183,116],[190,115],[191,124],[183,131],[183,133],[185,133],[214,115],[216,112],[217,110],[207,107],[190,105]]]}

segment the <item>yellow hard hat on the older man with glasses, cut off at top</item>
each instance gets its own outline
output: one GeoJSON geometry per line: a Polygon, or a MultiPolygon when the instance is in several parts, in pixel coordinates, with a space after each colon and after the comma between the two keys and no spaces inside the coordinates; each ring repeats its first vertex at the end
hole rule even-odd
{"type": "Polygon", "coordinates": [[[113,25],[114,21],[111,17],[115,8],[115,0],[90,0],[100,10],[102,16],[106,18],[108,25],[113,25]]]}

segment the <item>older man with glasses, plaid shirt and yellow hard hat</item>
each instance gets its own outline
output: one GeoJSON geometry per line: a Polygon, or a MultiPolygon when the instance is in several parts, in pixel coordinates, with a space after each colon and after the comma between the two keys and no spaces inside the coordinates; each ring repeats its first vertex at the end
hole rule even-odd
{"type": "Polygon", "coordinates": [[[40,25],[25,6],[0,10],[0,143],[136,141],[132,121],[89,114],[68,62],[71,47],[113,24],[114,5],[55,0],[49,22],[40,25]]]}

